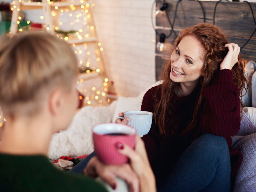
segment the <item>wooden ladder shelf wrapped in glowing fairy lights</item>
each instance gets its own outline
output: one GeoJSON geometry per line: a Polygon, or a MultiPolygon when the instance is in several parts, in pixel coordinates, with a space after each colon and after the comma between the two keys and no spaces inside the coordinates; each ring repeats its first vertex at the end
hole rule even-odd
{"type": "MultiPolygon", "coordinates": [[[[81,15],[84,16],[83,26],[90,26],[90,30],[94,30],[90,34],[82,34],[83,30],[79,30],[76,32],[76,36],[63,36],[61,38],[65,39],[67,43],[69,43],[73,48],[76,47],[78,50],[74,50],[77,56],[90,55],[91,53],[86,50],[89,45],[93,44],[94,47],[94,59],[83,58],[79,59],[78,66],[81,66],[85,69],[78,76],[78,90],[85,95],[85,104],[101,106],[105,105],[108,102],[106,101],[106,92],[108,86],[108,79],[105,75],[104,65],[102,62],[101,51],[103,48],[101,47],[101,43],[98,42],[98,35],[95,29],[95,24],[92,16],[91,7],[93,7],[90,1],[80,0],[80,1],[57,1],[51,2],[50,0],[42,0],[42,2],[33,2],[33,1],[23,1],[23,0],[15,0],[11,3],[12,18],[11,18],[11,27],[10,32],[15,34],[18,32],[18,24],[19,24],[19,11],[24,10],[32,10],[32,9],[43,9],[45,25],[44,28],[46,31],[54,33],[55,30],[61,28],[59,22],[60,16],[63,13],[72,11],[81,11],[78,14],[78,17],[81,15]],[[89,22],[90,20],[90,22],[89,22]],[[87,22],[85,22],[87,21],[87,22]],[[87,23],[87,24],[85,24],[87,23]],[[90,25],[88,24],[90,23],[90,25]],[[84,47],[84,49],[82,48],[84,47]],[[95,61],[96,59],[96,61],[95,61]],[[93,68],[89,68],[91,63],[93,64],[93,68]]],[[[77,16],[77,15],[76,15],[77,16]]],[[[78,19],[79,20],[79,19],[78,19]]],[[[21,30],[22,31],[22,30],[21,30]]]]}

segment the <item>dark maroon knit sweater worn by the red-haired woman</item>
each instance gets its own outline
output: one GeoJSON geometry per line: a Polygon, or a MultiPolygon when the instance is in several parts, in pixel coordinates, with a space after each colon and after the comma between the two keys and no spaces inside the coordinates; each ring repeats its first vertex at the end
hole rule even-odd
{"type": "MultiPolygon", "coordinates": [[[[160,98],[158,86],[152,87],[144,95],[142,111],[154,112],[157,102],[154,99],[155,94],[157,94],[157,99],[160,98]]],[[[168,114],[169,118],[165,122],[165,127],[172,127],[175,130],[174,133],[167,129],[166,135],[160,136],[158,125],[153,118],[149,133],[142,137],[158,186],[165,181],[182,152],[192,142],[191,137],[179,138],[178,135],[192,120],[194,106],[199,99],[199,91],[200,86],[197,86],[188,96],[174,96],[172,102],[177,107],[172,111],[175,113],[168,114]]],[[[200,135],[209,133],[223,136],[230,147],[232,144],[230,136],[238,133],[241,120],[238,88],[233,83],[231,70],[219,71],[212,84],[203,91],[203,96],[204,104],[198,123],[201,130],[200,135]]],[[[242,154],[238,150],[230,150],[230,158],[232,179],[242,162],[242,154]]]]}

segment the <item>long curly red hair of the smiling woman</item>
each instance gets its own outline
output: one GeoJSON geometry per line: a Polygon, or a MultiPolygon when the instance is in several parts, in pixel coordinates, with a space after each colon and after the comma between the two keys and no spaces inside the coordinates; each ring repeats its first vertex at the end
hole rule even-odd
{"type": "MultiPolygon", "coordinates": [[[[204,75],[200,77],[200,96],[198,103],[194,108],[193,120],[181,134],[189,133],[193,129],[199,129],[197,122],[199,119],[199,111],[201,110],[203,103],[202,91],[205,87],[211,84],[214,76],[220,70],[220,64],[228,51],[228,48],[224,45],[229,43],[224,32],[222,32],[219,27],[206,23],[200,23],[182,30],[175,40],[175,48],[179,45],[184,36],[195,37],[204,48],[204,64],[202,70],[202,74],[204,75]]],[[[242,95],[245,83],[248,83],[244,74],[244,66],[245,60],[239,55],[238,62],[232,68],[233,82],[239,89],[239,96],[242,95]]],[[[179,83],[173,82],[170,79],[170,73],[171,61],[169,61],[169,63],[164,67],[162,74],[163,83],[159,86],[158,90],[161,92],[161,97],[160,100],[156,102],[157,104],[154,109],[154,118],[156,122],[158,122],[160,134],[165,134],[164,122],[166,121],[167,114],[171,113],[173,110],[173,104],[170,101],[175,93],[170,90],[176,90],[180,86],[179,83]]],[[[241,99],[240,102],[242,106],[241,99]]]]}

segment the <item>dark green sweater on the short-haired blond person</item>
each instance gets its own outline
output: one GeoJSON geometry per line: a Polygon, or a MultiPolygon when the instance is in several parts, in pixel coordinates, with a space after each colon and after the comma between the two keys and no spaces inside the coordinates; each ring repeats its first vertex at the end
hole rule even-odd
{"type": "Polygon", "coordinates": [[[1,192],[106,192],[88,177],[63,173],[43,155],[0,153],[1,192]]]}

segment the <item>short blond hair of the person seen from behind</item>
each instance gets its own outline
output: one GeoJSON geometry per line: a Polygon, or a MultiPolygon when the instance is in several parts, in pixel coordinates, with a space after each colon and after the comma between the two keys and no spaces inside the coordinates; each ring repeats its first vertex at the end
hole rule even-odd
{"type": "Polygon", "coordinates": [[[0,106],[10,114],[16,104],[35,99],[42,88],[70,89],[76,75],[75,53],[56,35],[27,32],[0,39],[0,106]]]}

